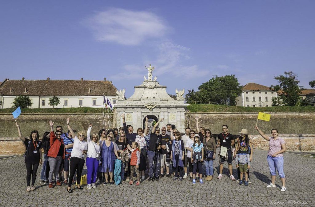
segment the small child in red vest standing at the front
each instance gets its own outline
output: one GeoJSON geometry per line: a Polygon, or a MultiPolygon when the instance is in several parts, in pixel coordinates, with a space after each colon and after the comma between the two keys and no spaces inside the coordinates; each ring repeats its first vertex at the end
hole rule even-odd
{"type": "MultiPolygon", "coordinates": [[[[140,150],[138,148],[138,143],[137,142],[133,142],[131,144],[131,154],[129,154],[128,156],[130,157],[130,178],[133,177],[134,171],[137,174],[137,183],[136,185],[140,185],[140,172],[139,172],[139,164],[140,164],[140,150]]],[[[134,182],[132,181],[132,179],[130,179],[129,181],[129,185],[134,184],[134,182]]]]}

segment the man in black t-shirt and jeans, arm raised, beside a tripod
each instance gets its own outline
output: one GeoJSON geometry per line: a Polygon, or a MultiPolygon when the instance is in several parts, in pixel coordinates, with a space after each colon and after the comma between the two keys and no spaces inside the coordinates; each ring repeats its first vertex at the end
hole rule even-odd
{"type": "MultiPolygon", "coordinates": [[[[157,125],[162,122],[163,119],[159,120],[154,127],[152,128],[152,132],[150,134],[150,142],[149,142],[149,147],[148,147],[148,161],[149,161],[149,179],[148,181],[152,180],[153,177],[153,165],[154,165],[154,157],[158,156],[158,150],[160,150],[161,148],[161,140],[159,138],[159,133],[160,133],[160,128],[157,127],[157,125]]],[[[155,177],[156,177],[156,181],[158,180],[158,165],[159,164],[159,159],[157,159],[157,163],[156,163],[156,172],[155,172],[155,177]]]]}

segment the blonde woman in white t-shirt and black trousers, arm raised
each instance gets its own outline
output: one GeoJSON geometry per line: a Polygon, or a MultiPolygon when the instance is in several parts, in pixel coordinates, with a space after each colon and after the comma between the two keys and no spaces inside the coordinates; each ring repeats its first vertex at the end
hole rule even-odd
{"type": "Polygon", "coordinates": [[[73,129],[69,125],[70,119],[67,118],[67,127],[70,130],[71,136],[73,138],[73,148],[71,151],[71,157],[70,157],[70,169],[69,169],[69,177],[68,177],[68,188],[67,191],[68,193],[72,193],[73,191],[71,190],[71,185],[72,185],[72,180],[74,177],[74,174],[77,171],[77,188],[82,190],[81,184],[81,174],[84,166],[84,155],[87,152],[88,149],[88,143],[84,141],[85,134],[84,132],[78,132],[79,138],[76,136],[74,133],[73,129]]]}

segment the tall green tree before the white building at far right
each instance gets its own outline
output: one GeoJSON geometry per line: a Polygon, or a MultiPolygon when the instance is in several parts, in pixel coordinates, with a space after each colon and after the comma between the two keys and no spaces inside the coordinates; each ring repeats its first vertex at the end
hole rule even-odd
{"type": "Polygon", "coordinates": [[[275,76],[274,79],[278,80],[279,84],[272,85],[270,88],[278,91],[282,103],[285,106],[297,106],[300,100],[299,94],[304,90],[303,86],[299,86],[297,75],[292,71],[284,72],[284,75],[275,76]]]}

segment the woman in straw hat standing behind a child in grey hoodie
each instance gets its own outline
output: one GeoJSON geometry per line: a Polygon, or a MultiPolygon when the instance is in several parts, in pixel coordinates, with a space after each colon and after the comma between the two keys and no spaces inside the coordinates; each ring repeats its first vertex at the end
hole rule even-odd
{"type": "MultiPolygon", "coordinates": [[[[236,140],[238,141],[238,144],[236,145],[236,148],[235,148],[235,151],[234,151],[234,155],[233,157],[235,158],[236,157],[236,154],[239,154],[242,152],[241,150],[241,146],[244,146],[245,149],[246,149],[246,153],[249,154],[249,161],[251,162],[253,160],[253,153],[254,153],[254,150],[253,150],[253,141],[251,139],[249,139],[248,137],[248,130],[247,129],[242,129],[240,132],[239,132],[241,135],[236,138],[236,140]]],[[[249,181],[249,169],[247,168],[247,171],[244,172],[244,173],[247,173],[247,176],[248,176],[248,183],[251,184],[252,182],[249,181]]],[[[237,175],[238,175],[238,179],[236,182],[240,182],[240,171],[239,171],[239,168],[237,168],[237,175]]]]}

